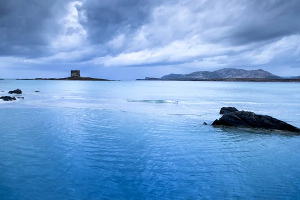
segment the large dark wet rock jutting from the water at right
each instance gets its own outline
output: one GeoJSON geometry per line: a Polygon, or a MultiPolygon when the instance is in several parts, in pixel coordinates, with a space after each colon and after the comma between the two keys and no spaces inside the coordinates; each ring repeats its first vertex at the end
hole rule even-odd
{"type": "MultiPolygon", "coordinates": [[[[288,124],[279,119],[273,118],[268,115],[255,114],[249,111],[229,111],[234,110],[234,107],[222,107],[223,110],[227,112],[224,115],[213,121],[211,125],[222,125],[222,126],[233,126],[233,127],[243,127],[243,128],[259,128],[268,130],[283,130],[290,132],[300,133],[300,129],[288,124]]],[[[222,111],[221,109],[221,111],[222,111]]],[[[220,111],[220,113],[221,113],[220,111]]]]}

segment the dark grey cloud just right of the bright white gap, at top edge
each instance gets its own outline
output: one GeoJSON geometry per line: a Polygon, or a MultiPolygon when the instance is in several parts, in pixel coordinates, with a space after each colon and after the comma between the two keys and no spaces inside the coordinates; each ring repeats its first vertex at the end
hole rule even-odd
{"type": "Polygon", "coordinates": [[[77,6],[80,23],[94,43],[120,33],[131,33],[148,22],[152,8],[161,0],[86,0],[77,6]]]}

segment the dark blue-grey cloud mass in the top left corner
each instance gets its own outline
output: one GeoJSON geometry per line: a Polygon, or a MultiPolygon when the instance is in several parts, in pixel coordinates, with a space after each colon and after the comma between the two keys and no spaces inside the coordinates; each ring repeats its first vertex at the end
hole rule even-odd
{"type": "Polygon", "coordinates": [[[1,0],[0,55],[36,57],[59,32],[57,19],[68,0],[1,0]]]}

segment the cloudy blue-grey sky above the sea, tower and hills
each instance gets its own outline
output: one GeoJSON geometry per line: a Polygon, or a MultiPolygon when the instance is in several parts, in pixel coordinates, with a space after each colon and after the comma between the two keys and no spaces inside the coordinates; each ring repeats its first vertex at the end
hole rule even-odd
{"type": "Polygon", "coordinates": [[[0,77],[300,75],[300,0],[0,0],[0,77]]]}

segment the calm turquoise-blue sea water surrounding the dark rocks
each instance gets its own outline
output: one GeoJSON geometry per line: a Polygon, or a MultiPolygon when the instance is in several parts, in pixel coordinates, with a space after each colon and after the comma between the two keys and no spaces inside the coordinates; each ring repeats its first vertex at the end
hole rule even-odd
{"type": "Polygon", "coordinates": [[[300,136],[202,125],[235,106],[300,127],[299,83],[0,80],[16,88],[0,199],[300,199],[300,136]]]}

